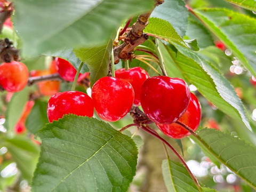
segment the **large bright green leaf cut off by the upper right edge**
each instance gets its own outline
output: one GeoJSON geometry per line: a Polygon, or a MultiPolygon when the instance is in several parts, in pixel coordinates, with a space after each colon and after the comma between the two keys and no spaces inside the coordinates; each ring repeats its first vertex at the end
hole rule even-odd
{"type": "Polygon", "coordinates": [[[194,13],[256,76],[256,19],[226,9],[203,9],[194,13]]]}

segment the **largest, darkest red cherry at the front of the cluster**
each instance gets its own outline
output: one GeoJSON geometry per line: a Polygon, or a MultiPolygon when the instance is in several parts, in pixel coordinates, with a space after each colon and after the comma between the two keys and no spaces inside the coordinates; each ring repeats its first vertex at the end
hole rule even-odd
{"type": "Polygon", "coordinates": [[[189,87],[180,78],[149,77],[141,87],[141,107],[156,123],[177,121],[185,113],[189,100],[189,87]]]}

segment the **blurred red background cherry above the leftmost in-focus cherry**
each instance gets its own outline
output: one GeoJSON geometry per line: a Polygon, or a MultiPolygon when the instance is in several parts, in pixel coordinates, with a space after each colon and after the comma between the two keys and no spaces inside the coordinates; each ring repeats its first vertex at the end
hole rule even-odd
{"type": "MultiPolygon", "coordinates": [[[[65,59],[55,58],[55,61],[61,78],[65,79],[66,81],[73,82],[77,72],[75,67],[65,59]]],[[[84,75],[80,73],[77,82],[81,81],[83,78],[85,78],[85,76],[87,76],[87,74],[84,75]]]]}

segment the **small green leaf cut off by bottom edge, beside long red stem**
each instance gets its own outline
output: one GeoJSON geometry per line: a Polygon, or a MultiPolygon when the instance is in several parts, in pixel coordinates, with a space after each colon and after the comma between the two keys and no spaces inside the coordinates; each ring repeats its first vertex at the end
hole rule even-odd
{"type": "Polygon", "coordinates": [[[164,182],[168,192],[199,191],[185,166],[178,162],[164,159],[162,163],[164,182]]]}

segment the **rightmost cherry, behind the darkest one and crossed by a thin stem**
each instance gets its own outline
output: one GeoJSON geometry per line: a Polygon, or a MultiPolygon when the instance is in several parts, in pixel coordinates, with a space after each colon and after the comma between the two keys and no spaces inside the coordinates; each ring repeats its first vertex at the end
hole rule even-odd
{"type": "MultiPolygon", "coordinates": [[[[196,131],[201,119],[201,106],[198,102],[196,96],[191,93],[190,102],[188,105],[188,108],[179,119],[178,122],[183,123],[190,127],[193,131],[196,131]]],[[[181,125],[177,123],[171,123],[171,124],[158,124],[156,123],[156,126],[161,130],[164,134],[167,136],[174,138],[174,139],[180,139],[183,137],[186,137],[190,135],[190,133],[185,130],[181,125]]]]}

